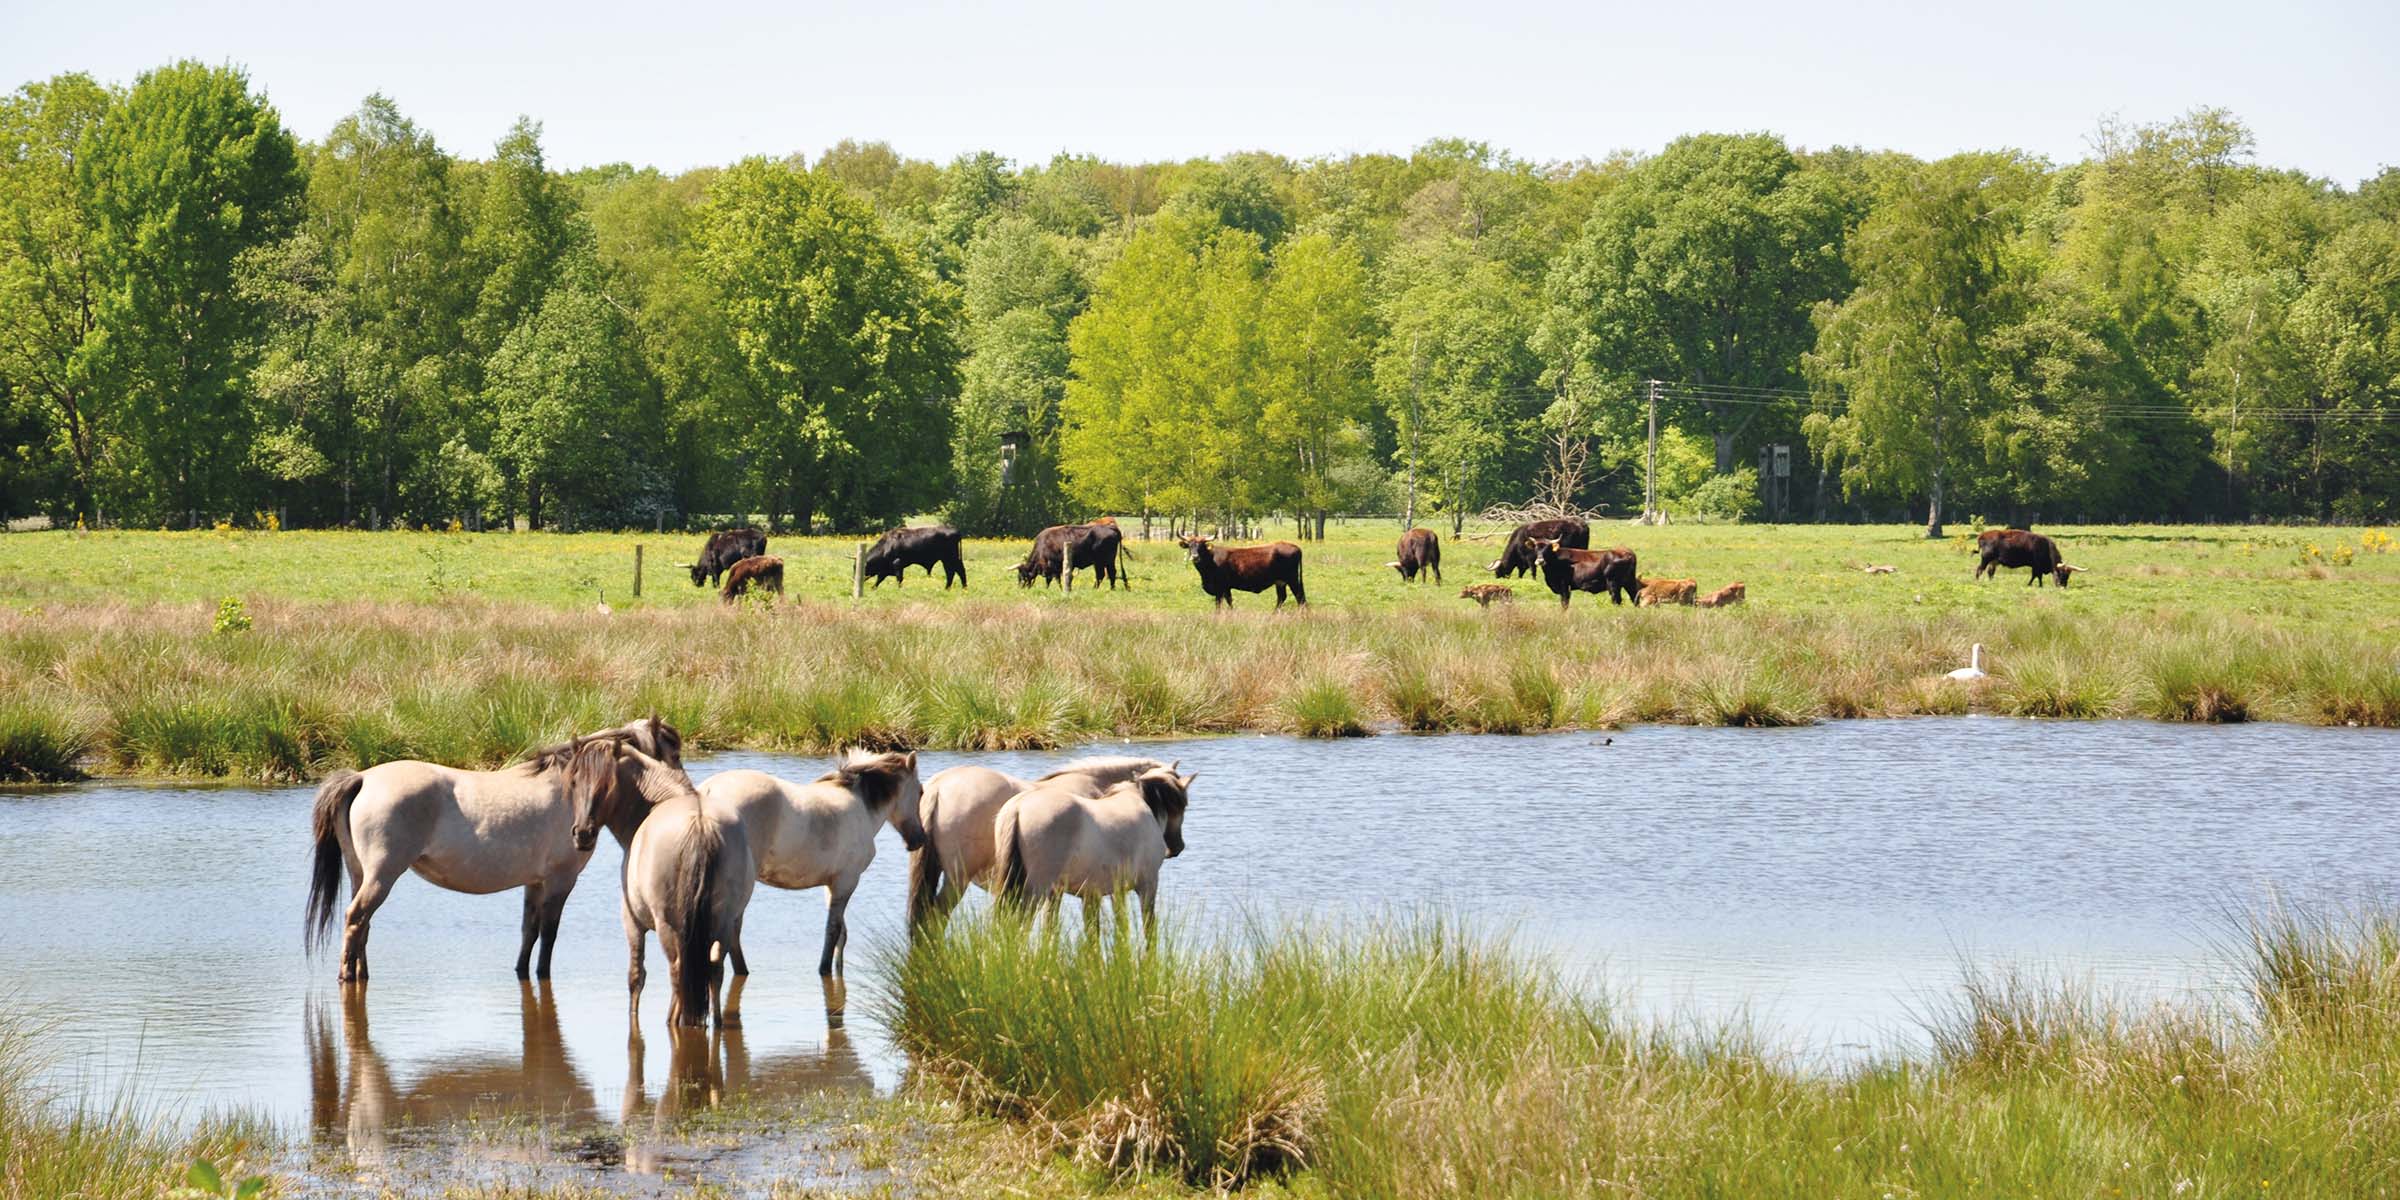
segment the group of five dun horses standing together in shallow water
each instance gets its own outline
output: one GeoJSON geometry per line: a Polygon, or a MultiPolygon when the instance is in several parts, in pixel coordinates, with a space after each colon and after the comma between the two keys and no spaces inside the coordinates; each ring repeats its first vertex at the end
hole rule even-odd
{"type": "Polygon", "coordinates": [[[739,989],[725,1003],[725,970],[749,974],[742,917],[758,883],[826,888],[816,960],[826,979],[842,972],[850,898],[883,826],[912,854],[912,929],[946,914],[974,883],[1006,905],[1051,912],[1063,895],[1080,895],[1090,924],[1102,900],[1123,910],[1130,890],[1147,931],[1159,864],[1183,852],[1195,778],[1154,758],[1082,758],[1037,780],[955,766],[919,782],[914,751],[847,751],[811,782],[761,770],[694,782],[682,746],[672,725],[641,718],[499,770],[394,761],[334,773],[317,787],[312,818],[310,948],[331,938],[338,912],[341,982],[362,984],[374,914],[415,871],[458,893],[523,888],[516,974],[550,979],[566,898],[607,830],[624,847],[634,1022],[655,934],[672,977],[667,1025],[715,1018],[718,1027],[737,1027],[739,989]]]}

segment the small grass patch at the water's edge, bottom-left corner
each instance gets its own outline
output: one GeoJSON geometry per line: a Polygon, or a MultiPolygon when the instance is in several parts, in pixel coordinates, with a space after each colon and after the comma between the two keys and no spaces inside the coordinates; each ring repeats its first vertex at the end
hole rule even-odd
{"type": "Polygon", "coordinates": [[[228,1178],[257,1169],[274,1135],[257,1121],[204,1121],[194,1130],[134,1099],[72,1104],[34,1085],[38,1030],[0,1018],[0,1195],[154,1200],[178,1195],[194,1159],[228,1178]]]}

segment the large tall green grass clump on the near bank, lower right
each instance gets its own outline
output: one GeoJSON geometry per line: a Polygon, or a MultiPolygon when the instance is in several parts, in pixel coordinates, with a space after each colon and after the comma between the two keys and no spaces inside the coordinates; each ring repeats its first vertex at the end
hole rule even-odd
{"type": "Polygon", "coordinates": [[[1442,922],[1027,934],[893,960],[926,1080],[1121,1171],[1330,1195],[2371,1195],[2400,1171],[2400,924],[2261,917],[2234,1008],[1970,974],[1848,1073],[1637,1030],[1442,922]],[[2364,1190],[2362,1190],[2364,1186],[2364,1190]]]}

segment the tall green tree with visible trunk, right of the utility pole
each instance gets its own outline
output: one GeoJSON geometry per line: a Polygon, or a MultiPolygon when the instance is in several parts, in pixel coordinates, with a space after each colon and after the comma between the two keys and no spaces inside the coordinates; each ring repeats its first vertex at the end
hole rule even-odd
{"type": "Polygon", "coordinates": [[[1992,401],[1992,331],[2018,312],[2009,240],[2040,182],[2009,154],[1958,154],[1896,175],[1848,242],[1858,290],[1817,305],[1810,377],[1841,394],[1807,418],[1846,492],[1925,497],[1925,535],[1992,401]]]}

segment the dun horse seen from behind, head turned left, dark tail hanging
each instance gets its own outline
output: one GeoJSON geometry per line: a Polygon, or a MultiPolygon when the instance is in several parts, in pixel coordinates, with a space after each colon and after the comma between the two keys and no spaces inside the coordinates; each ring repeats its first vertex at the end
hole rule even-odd
{"type": "Polygon", "coordinates": [[[566,794],[576,811],[576,845],[586,852],[600,826],[636,818],[624,847],[624,941],[629,1020],[641,1025],[646,934],[658,931],[667,953],[667,1025],[742,1025],[742,1006],[720,1006],[725,958],[742,958],[742,912],[749,910],[758,866],[742,818],[725,804],[691,790],[682,773],[624,742],[588,742],[566,768],[566,794]],[[722,958],[718,950],[722,948],[722,958]]]}

